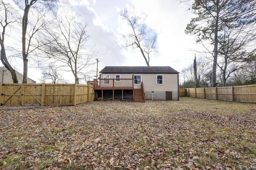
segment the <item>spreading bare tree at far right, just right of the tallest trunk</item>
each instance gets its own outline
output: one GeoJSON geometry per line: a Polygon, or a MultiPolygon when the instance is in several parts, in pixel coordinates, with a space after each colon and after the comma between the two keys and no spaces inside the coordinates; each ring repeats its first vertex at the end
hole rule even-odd
{"type": "Polygon", "coordinates": [[[229,26],[224,25],[219,37],[218,67],[222,72],[223,86],[232,72],[242,68],[240,63],[244,59],[256,54],[255,45],[256,28],[255,23],[249,25],[229,26]]]}

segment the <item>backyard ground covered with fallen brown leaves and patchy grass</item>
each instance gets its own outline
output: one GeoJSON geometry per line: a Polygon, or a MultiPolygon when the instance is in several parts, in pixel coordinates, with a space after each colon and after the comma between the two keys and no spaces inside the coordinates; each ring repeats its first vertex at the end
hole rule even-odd
{"type": "Polygon", "coordinates": [[[0,106],[0,169],[256,169],[256,105],[0,106]]]}

